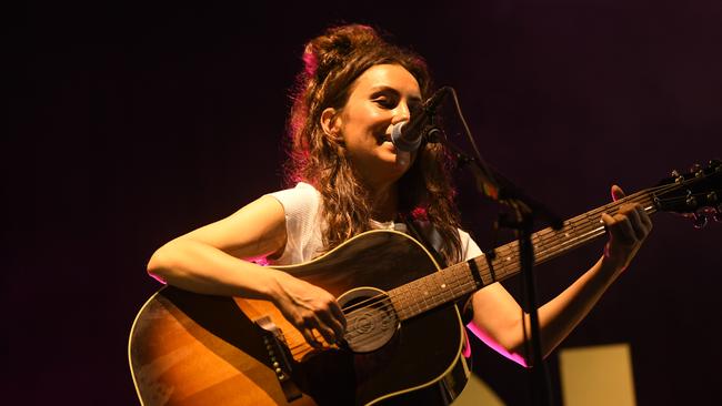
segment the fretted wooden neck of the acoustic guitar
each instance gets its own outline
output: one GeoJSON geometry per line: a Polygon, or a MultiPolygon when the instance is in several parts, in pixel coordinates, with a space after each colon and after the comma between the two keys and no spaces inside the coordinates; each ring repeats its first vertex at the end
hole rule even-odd
{"type": "MultiPolygon", "coordinates": [[[[624,203],[639,203],[650,214],[656,212],[650,190],[566,220],[560,230],[543,229],[532,234],[534,264],[546,262],[605,234],[602,213],[611,215],[624,203]]],[[[494,250],[493,258],[480,255],[390,291],[400,319],[407,319],[450,303],[489,284],[521,272],[519,241],[494,250]]]]}

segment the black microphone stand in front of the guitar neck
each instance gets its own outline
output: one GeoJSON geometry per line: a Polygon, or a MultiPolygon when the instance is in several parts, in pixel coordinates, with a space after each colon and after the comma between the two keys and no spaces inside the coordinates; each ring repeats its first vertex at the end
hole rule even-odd
{"type": "MultiPolygon", "coordinates": [[[[433,118],[433,115],[431,116],[433,118]]],[[[460,148],[451,143],[445,134],[433,125],[433,120],[424,129],[424,134],[429,142],[441,142],[444,144],[454,154],[459,166],[470,171],[475,181],[477,189],[483,197],[504,204],[513,211],[513,217],[501,214],[498,224],[499,226],[514,230],[519,238],[519,257],[531,332],[532,367],[530,368],[530,373],[532,402],[534,405],[551,406],[553,404],[551,384],[549,372],[543,361],[539,334],[539,313],[537,309],[535,280],[533,274],[534,246],[531,236],[537,221],[546,222],[555,230],[562,227],[563,221],[545,205],[524,194],[499,172],[490,169],[481,156],[478,159],[469,156],[460,148]]],[[[492,252],[490,260],[493,260],[493,256],[492,252]]],[[[525,323],[522,323],[522,325],[525,325],[525,323]]],[[[529,344],[529,342],[527,343],[529,344]]],[[[529,357],[529,347],[527,347],[527,356],[529,357]]]]}

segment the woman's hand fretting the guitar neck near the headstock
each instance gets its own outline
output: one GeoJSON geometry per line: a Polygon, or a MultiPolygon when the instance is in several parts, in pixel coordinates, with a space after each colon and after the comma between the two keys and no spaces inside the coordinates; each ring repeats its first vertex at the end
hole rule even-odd
{"type": "MultiPolygon", "coordinates": [[[[612,199],[616,201],[621,197],[624,197],[624,192],[620,186],[613,185],[612,199]]],[[[621,272],[629,266],[652,231],[652,221],[639,203],[625,203],[614,215],[602,213],[602,222],[610,235],[604,260],[611,262],[616,272],[621,272]]]]}

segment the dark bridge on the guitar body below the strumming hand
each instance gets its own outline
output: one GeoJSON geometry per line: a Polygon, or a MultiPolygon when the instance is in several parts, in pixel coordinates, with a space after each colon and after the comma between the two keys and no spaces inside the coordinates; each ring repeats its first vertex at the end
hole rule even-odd
{"type": "Polygon", "coordinates": [[[260,327],[263,345],[269,356],[267,365],[273,369],[275,378],[281,384],[285,400],[292,402],[300,398],[303,394],[291,379],[291,361],[288,356],[288,344],[283,332],[269,316],[261,317],[254,323],[260,327]]]}

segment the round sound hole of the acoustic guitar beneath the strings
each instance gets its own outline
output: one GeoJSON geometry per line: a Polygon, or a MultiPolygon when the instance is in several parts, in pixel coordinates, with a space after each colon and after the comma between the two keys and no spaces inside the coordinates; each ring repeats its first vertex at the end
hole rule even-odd
{"type": "Polygon", "coordinates": [[[397,313],[383,291],[358,288],[344,293],[338,302],[347,318],[344,339],[355,353],[381,348],[399,328],[397,313]]]}

